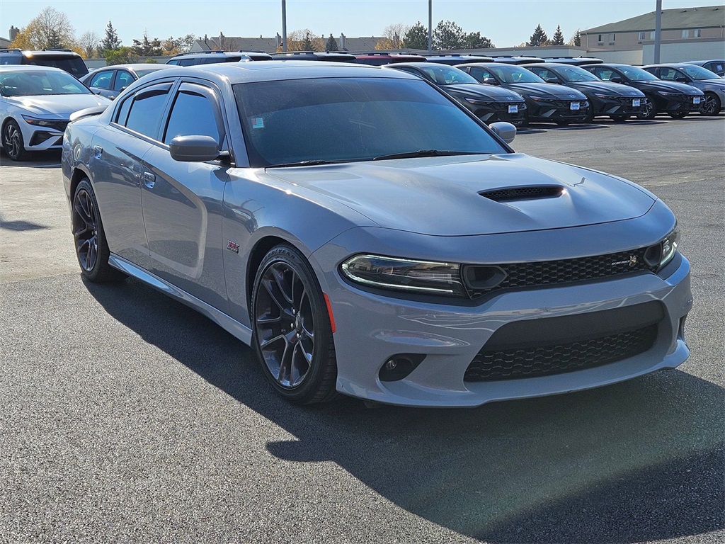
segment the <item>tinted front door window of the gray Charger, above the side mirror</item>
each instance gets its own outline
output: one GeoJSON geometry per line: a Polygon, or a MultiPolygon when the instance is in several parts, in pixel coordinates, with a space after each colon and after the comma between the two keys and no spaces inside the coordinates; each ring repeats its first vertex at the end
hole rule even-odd
{"type": "Polygon", "coordinates": [[[209,90],[197,85],[186,83],[182,86],[171,109],[165,144],[176,136],[212,136],[216,141],[221,140],[215,106],[209,93],[209,90]]]}

